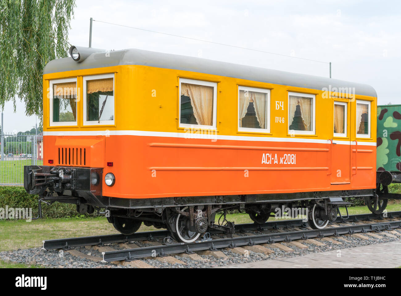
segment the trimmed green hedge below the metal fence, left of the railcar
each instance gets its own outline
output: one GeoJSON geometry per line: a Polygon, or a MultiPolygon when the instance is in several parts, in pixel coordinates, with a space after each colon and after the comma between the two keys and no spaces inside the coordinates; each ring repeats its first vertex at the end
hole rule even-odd
{"type": "MultiPolygon", "coordinates": [[[[0,186],[0,208],[32,208],[32,216],[38,215],[38,195],[26,193],[24,187],[0,186]]],[[[96,217],[95,213],[80,214],[77,212],[76,205],[55,202],[52,205],[42,203],[42,217],[62,218],[62,217],[96,217]]]]}

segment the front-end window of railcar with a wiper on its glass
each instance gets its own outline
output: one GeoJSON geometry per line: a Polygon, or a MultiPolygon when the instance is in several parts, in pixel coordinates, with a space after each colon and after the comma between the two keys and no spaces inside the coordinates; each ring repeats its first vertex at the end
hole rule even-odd
{"type": "Polygon", "coordinates": [[[114,74],[83,77],[83,124],[114,124],[114,74]]]}

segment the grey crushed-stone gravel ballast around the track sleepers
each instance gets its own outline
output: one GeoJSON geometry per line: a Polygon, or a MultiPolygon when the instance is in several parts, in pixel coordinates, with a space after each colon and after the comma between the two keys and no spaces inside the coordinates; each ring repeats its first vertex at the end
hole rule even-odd
{"type": "MultiPolygon", "coordinates": [[[[269,255],[255,253],[253,251],[245,251],[244,254],[238,254],[231,252],[230,249],[220,249],[220,251],[222,251],[224,255],[226,255],[226,257],[218,258],[213,255],[200,255],[203,258],[203,260],[201,261],[192,260],[188,257],[179,257],[177,255],[172,255],[174,258],[182,262],[174,264],[155,260],[154,258],[144,258],[139,260],[142,260],[144,263],[154,268],[212,268],[217,266],[256,262],[260,260],[296,257],[302,256],[307,253],[318,253],[336,249],[358,247],[363,245],[373,245],[389,241],[398,241],[401,239],[401,230],[396,229],[396,231],[398,233],[397,237],[385,236],[386,232],[375,233],[383,236],[380,239],[377,237],[369,236],[367,234],[363,234],[365,238],[358,238],[352,235],[330,237],[334,241],[341,242],[341,244],[333,243],[332,241],[319,240],[321,243],[324,243],[323,246],[317,246],[315,244],[299,240],[299,242],[303,245],[306,245],[307,248],[299,248],[293,244],[283,242],[283,245],[287,245],[294,250],[288,252],[282,251],[278,248],[270,248],[269,245],[267,245],[269,249],[272,249],[274,251],[274,253],[271,253],[269,255]]],[[[394,234],[392,235],[394,236],[394,234]]],[[[137,242],[136,244],[141,245],[141,243],[139,242],[137,242]]],[[[122,249],[122,247],[119,247],[118,244],[111,244],[109,245],[109,247],[112,247],[114,249],[122,249]]],[[[91,249],[90,247],[77,247],[75,248],[75,250],[88,256],[98,257],[99,262],[95,262],[84,257],[71,255],[68,251],[46,251],[42,248],[3,251],[0,252],[0,260],[27,265],[41,265],[46,268],[132,268],[131,266],[123,266],[121,264],[100,262],[100,260],[102,259],[101,252],[91,249]]]]}

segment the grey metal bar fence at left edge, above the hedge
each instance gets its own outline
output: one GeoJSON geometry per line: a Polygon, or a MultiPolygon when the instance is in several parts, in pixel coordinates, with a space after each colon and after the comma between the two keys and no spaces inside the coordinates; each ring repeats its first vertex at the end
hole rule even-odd
{"type": "Polygon", "coordinates": [[[23,185],[24,166],[43,164],[42,136],[0,135],[0,185],[23,185]]]}

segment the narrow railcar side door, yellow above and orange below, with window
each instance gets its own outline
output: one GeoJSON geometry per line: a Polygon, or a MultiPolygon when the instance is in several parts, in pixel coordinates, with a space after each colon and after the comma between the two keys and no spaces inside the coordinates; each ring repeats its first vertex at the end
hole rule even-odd
{"type": "Polygon", "coordinates": [[[343,101],[334,101],[333,138],[330,147],[332,185],[350,184],[350,124],[348,118],[350,104],[343,101]]]}

